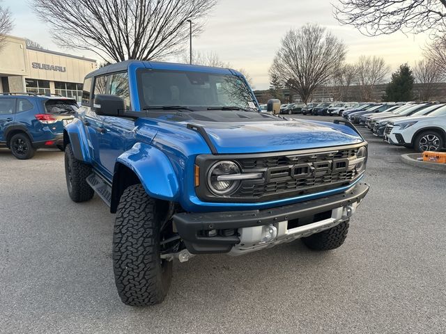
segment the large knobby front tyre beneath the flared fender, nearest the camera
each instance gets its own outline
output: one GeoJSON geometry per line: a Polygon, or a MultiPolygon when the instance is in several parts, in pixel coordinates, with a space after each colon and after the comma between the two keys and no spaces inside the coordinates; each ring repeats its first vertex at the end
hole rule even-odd
{"type": "Polygon", "coordinates": [[[141,184],[123,192],[113,234],[114,277],[121,301],[130,306],[161,303],[169,291],[172,262],[160,258],[156,202],[141,184]]]}

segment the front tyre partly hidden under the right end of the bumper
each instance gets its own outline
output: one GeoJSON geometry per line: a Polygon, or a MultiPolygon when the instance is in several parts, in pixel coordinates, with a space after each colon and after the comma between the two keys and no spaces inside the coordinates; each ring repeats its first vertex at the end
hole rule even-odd
{"type": "Polygon", "coordinates": [[[302,238],[305,246],[312,250],[330,250],[344,244],[348,233],[348,221],[343,221],[339,225],[328,230],[315,233],[309,237],[302,238]]]}

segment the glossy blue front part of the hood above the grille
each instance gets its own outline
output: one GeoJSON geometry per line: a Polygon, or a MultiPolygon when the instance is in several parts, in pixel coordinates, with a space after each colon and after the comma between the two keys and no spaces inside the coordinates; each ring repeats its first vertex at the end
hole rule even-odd
{"type": "Polygon", "coordinates": [[[277,122],[195,121],[208,134],[219,154],[304,150],[361,143],[350,127],[329,122],[277,120],[277,122]]]}

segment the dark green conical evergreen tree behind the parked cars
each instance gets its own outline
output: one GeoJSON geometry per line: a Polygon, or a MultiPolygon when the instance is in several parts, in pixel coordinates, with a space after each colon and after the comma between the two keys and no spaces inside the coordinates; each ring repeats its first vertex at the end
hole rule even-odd
{"type": "Polygon", "coordinates": [[[413,82],[415,77],[406,63],[399,66],[392,74],[392,80],[387,84],[383,100],[387,102],[407,102],[413,100],[413,82]]]}

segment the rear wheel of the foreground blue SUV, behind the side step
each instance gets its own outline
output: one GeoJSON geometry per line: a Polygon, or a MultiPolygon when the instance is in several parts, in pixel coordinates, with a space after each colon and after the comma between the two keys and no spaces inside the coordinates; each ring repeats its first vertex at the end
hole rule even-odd
{"type": "Polygon", "coordinates": [[[67,180],[68,195],[74,202],[86,202],[94,195],[93,189],[86,183],[91,174],[91,166],[75,158],[71,144],[65,148],[65,177],[67,180]]]}

